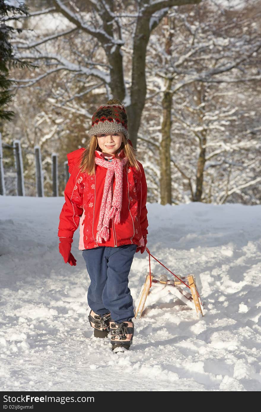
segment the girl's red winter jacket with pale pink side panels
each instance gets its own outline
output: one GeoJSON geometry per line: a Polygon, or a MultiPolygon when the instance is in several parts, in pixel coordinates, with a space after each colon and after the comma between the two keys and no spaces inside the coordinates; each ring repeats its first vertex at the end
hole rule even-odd
{"type": "MultiPolygon", "coordinates": [[[[68,153],[68,166],[71,176],[64,190],[65,204],[60,213],[58,236],[73,238],[80,224],[79,249],[92,249],[98,246],[118,247],[135,243],[140,245],[142,236],[148,234],[147,220],[147,183],[143,166],[138,162],[141,171],[135,167],[123,168],[122,178],[122,209],[120,223],[110,219],[108,241],[96,242],[97,225],[99,222],[100,204],[107,169],[95,165],[95,175],[81,173],[80,156],[85,148],[68,153]]],[[[100,152],[101,153],[101,152],[100,152]]],[[[102,158],[98,150],[95,156],[102,158]]],[[[123,149],[120,157],[124,157],[123,149]]],[[[113,175],[113,191],[115,175],[113,175]]]]}

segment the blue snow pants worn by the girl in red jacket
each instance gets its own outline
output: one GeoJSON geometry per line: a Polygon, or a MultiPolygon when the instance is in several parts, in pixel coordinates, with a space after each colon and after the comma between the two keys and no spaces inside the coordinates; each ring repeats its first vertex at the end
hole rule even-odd
{"type": "Polygon", "coordinates": [[[136,248],[136,244],[131,244],[82,250],[91,279],[87,293],[88,305],[100,316],[111,312],[115,323],[131,321],[134,317],[128,276],[136,248]]]}

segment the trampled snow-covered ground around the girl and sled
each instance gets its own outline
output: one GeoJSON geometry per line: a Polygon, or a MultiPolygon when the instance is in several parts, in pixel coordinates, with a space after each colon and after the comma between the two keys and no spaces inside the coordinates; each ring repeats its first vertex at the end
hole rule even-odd
{"type": "MultiPolygon", "coordinates": [[[[195,274],[205,316],[150,294],[131,350],[115,354],[88,323],[78,231],[77,266],[59,254],[63,202],[0,197],[0,390],[261,390],[261,206],[147,204],[150,252],[177,275],[195,274]]],[[[151,263],[155,276],[173,277],[151,263]]],[[[134,302],[147,271],[148,253],[136,253],[134,302]]]]}

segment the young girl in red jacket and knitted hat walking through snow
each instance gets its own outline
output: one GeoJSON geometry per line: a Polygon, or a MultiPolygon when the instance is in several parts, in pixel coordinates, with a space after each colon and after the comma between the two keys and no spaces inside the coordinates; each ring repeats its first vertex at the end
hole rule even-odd
{"type": "Polygon", "coordinates": [[[88,146],[67,155],[71,175],[60,214],[59,251],[65,263],[76,265],[71,243],[80,225],[79,249],[91,280],[90,325],[95,337],[110,332],[113,351],[124,351],[134,334],[129,271],[134,254],[143,253],[147,243],[147,183],[120,101],[109,100],[96,110],[88,134],[88,146]]]}

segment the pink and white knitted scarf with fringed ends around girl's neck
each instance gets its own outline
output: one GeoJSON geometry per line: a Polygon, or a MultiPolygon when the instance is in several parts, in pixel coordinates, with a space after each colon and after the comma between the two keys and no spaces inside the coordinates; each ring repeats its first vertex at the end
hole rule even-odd
{"type": "Polygon", "coordinates": [[[114,223],[120,223],[120,211],[122,208],[122,176],[123,167],[128,162],[128,158],[123,159],[114,158],[111,162],[105,159],[95,157],[95,163],[99,166],[106,167],[106,179],[103,188],[103,195],[101,200],[100,216],[97,226],[96,241],[98,243],[109,238],[109,221],[114,218],[114,223]],[[112,179],[115,173],[115,190],[112,199],[112,179]]]}

